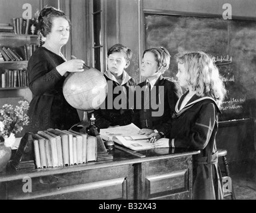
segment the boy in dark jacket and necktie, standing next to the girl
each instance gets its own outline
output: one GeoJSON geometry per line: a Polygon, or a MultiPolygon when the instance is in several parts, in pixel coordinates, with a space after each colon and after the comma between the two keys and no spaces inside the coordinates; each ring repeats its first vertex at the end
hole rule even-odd
{"type": "Polygon", "coordinates": [[[164,47],[147,49],[143,53],[141,75],[146,78],[138,87],[150,91],[142,93],[141,106],[137,99],[139,94],[135,91],[135,115],[133,123],[141,130],[139,134],[155,132],[156,138],[164,137],[169,130],[169,120],[175,112],[175,104],[182,95],[181,87],[163,78],[163,73],[169,68],[170,55],[164,47]],[[156,109],[156,105],[159,108],[156,109]]]}

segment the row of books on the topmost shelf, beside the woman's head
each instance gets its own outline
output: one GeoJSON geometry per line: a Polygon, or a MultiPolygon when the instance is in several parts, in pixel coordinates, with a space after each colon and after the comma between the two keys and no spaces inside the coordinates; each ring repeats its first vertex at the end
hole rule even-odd
{"type": "Polygon", "coordinates": [[[23,19],[23,17],[13,18],[13,25],[10,23],[0,23],[0,32],[15,33],[24,35],[35,35],[35,21],[33,19],[23,19]]]}

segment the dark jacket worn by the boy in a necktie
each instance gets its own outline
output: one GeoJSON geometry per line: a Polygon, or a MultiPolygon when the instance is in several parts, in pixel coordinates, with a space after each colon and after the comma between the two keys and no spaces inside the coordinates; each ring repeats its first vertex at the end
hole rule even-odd
{"type": "MultiPolygon", "coordinates": [[[[146,89],[146,84],[147,81],[143,81],[137,87],[143,90],[146,89]]],[[[140,92],[137,89],[135,91],[133,123],[139,128],[150,128],[166,134],[175,105],[182,95],[181,87],[161,75],[149,95],[144,92],[139,94],[140,92]]]]}

